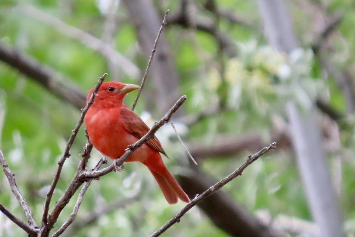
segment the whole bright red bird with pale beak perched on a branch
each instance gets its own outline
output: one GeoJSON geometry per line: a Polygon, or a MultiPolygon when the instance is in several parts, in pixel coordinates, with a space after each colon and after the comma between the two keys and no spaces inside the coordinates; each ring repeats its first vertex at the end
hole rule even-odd
{"type": "MultiPolygon", "coordinates": [[[[92,144],[111,159],[120,158],[127,146],[138,141],[149,131],[143,120],[122,103],[128,92],[138,88],[140,87],[137,85],[121,82],[103,82],[94,104],[86,113],[85,125],[92,144]]],[[[93,89],[89,92],[87,101],[92,92],[93,89]]],[[[189,197],[168,171],[159,152],[166,156],[159,140],[154,137],[134,151],[127,162],[139,161],[146,165],[169,204],[177,203],[178,198],[189,203],[189,197]]]]}

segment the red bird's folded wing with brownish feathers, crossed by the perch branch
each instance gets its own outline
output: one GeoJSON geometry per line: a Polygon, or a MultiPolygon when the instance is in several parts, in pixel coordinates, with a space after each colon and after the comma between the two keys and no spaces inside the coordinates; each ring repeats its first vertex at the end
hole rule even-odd
{"type": "MultiPolygon", "coordinates": [[[[135,135],[138,139],[141,139],[149,131],[149,127],[143,122],[143,120],[126,106],[121,108],[120,118],[125,125],[124,128],[135,135]]],[[[168,157],[158,138],[155,136],[150,139],[147,144],[162,153],[164,156],[168,157]]]]}

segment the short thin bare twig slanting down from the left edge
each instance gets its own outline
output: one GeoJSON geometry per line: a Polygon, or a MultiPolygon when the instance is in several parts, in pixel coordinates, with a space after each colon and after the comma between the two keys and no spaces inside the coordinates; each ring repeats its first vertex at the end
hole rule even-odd
{"type": "Polygon", "coordinates": [[[24,200],[22,194],[20,193],[20,190],[18,190],[18,188],[17,188],[17,184],[15,181],[15,174],[11,172],[9,165],[7,165],[7,162],[5,160],[4,154],[2,153],[1,149],[0,149],[0,165],[4,169],[4,173],[7,177],[7,180],[9,181],[11,191],[12,191],[13,195],[15,195],[18,203],[20,203],[21,208],[27,217],[27,221],[28,221],[29,225],[33,228],[37,227],[37,224],[33,219],[32,212],[29,209],[29,206],[28,206],[26,200],[24,200]]]}

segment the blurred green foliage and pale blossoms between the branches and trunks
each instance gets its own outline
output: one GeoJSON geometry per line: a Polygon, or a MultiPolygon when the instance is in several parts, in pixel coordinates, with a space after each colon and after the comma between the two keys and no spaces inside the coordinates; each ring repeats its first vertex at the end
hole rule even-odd
{"type": "MultiPolygon", "coordinates": [[[[50,15],[60,18],[69,25],[83,29],[100,38],[103,33],[105,16],[100,12],[100,1],[21,1],[33,5],[50,15]]],[[[103,1],[102,1],[103,2],[103,1]]],[[[218,136],[260,135],[265,144],[271,141],[272,118],[285,119],[284,103],[295,99],[300,107],[308,107],[316,96],[328,95],[334,108],[345,113],[344,95],[331,77],[324,77],[319,58],[313,55],[310,45],[315,36],[308,22],[312,19],[297,1],[290,1],[295,31],[302,48],[290,57],[274,52],[262,37],[260,17],[254,1],[216,1],[218,6],[229,9],[249,20],[249,26],[231,24],[220,19],[220,30],[226,32],[237,48],[237,56],[223,56],[225,80],[219,73],[218,47],[210,34],[192,31],[176,25],[164,29],[171,45],[174,61],[181,76],[181,91],[188,96],[184,104],[186,114],[198,115],[205,109],[218,106],[225,100],[225,108],[193,123],[184,134],[189,142],[199,141],[212,144],[218,136]],[[223,85],[225,84],[225,85],[223,85]],[[224,86],[224,94],[220,88],[224,86]]],[[[313,1],[323,2],[323,1],[313,1]]],[[[49,65],[87,93],[104,73],[109,72],[105,58],[75,39],[64,36],[43,22],[16,11],[17,1],[0,2],[0,40],[25,52],[45,65],[49,65]]],[[[160,11],[170,9],[170,14],[179,10],[175,1],[154,1],[160,11]]],[[[196,1],[202,5],[203,1],[196,1]]],[[[343,12],[339,31],[332,37],[332,57],[340,69],[354,71],[354,8],[352,1],[327,1],[330,12],[343,12]]],[[[200,11],[198,11],[201,14],[200,11]]],[[[202,14],[213,17],[211,13],[202,14]]],[[[138,48],[137,35],[123,4],[118,9],[118,24],[114,36],[116,49],[145,69],[148,55],[138,48]]],[[[169,75],[166,75],[167,77],[169,75]]],[[[107,80],[112,80],[110,74],[107,80]]],[[[122,75],[121,81],[140,84],[122,75]]],[[[148,79],[147,88],[152,87],[148,79]]],[[[144,94],[144,90],[143,90],[144,94]]],[[[131,105],[135,94],[126,98],[131,105]]],[[[154,106],[150,106],[154,112],[154,106]]],[[[143,98],[138,101],[137,114],[146,111],[143,98]]],[[[56,162],[64,150],[66,140],[77,123],[78,109],[58,99],[32,79],[27,78],[10,66],[0,63],[0,122],[1,149],[9,166],[16,174],[16,181],[22,194],[33,210],[35,220],[40,223],[45,192],[53,180],[56,162]]],[[[151,124],[159,119],[154,113],[148,120],[151,124]]],[[[150,125],[151,125],[150,124],[150,125]]],[[[335,153],[341,154],[342,183],[340,201],[345,219],[345,229],[349,236],[355,233],[354,209],[354,168],[355,148],[352,129],[341,133],[339,151],[328,153],[331,169],[335,153]],[[351,134],[351,135],[349,135],[351,134]]],[[[165,129],[158,138],[171,134],[165,129]]],[[[166,140],[163,146],[171,160],[165,160],[169,169],[179,172],[179,164],[187,163],[179,142],[166,140]]],[[[65,163],[58,188],[53,200],[57,200],[71,181],[86,138],[83,128],[71,149],[72,156],[65,163]]],[[[222,179],[243,162],[248,153],[229,157],[209,157],[200,161],[203,171],[222,179]]],[[[92,152],[89,167],[99,159],[97,151],[92,152]]],[[[0,202],[24,220],[17,200],[11,195],[4,173],[0,172],[0,202]]],[[[235,201],[250,212],[267,210],[272,217],[278,214],[312,220],[302,188],[300,174],[293,150],[279,149],[262,157],[247,168],[243,176],[223,188],[235,201]]],[[[75,195],[75,197],[77,194],[75,195]]],[[[101,216],[97,222],[79,229],[75,236],[148,236],[175,215],[184,204],[169,206],[149,171],[141,164],[129,163],[123,172],[110,173],[94,181],[84,196],[77,221],[85,219],[105,204],[117,199],[134,197],[132,204],[126,205],[101,216]]],[[[69,217],[73,199],[60,215],[56,228],[69,217]]],[[[53,204],[52,204],[53,205],[53,204]]],[[[0,215],[0,236],[25,236],[24,232],[0,215]]],[[[70,230],[72,231],[72,230],[70,230]]],[[[65,235],[64,235],[65,236],[65,235]]],[[[228,236],[215,227],[204,214],[193,208],[179,224],[169,229],[165,236],[228,236]],[[192,234],[193,233],[193,234],[192,234]]]]}

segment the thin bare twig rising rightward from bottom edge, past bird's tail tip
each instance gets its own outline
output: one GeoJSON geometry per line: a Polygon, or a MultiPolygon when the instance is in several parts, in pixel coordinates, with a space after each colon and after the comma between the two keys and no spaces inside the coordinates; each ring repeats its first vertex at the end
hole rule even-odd
{"type": "Polygon", "coordinates": [[[223,179],[222,181],[216,183],[209,189],[207,189],[205,192],[203,192],[201,195],[197,196],[196,198],[192,199],[189,204],[187,204],[178,214],[176,214],[170,221],[166,222],[165,225],[163,225],[159,230],[155,231],[150,237],[157,237],[160,236],[162,233],[164,233],[168,228],[170,228],[172,225],[174,225],[176,222],[180,221],[180,218],[185,215],[187,211],[189,211],[193,206],[195,206],[197,203],[199,203],[201,200],[206,198],[207,196],[211,195],[212,193],[216,192],[218,189],[222,188],[225,184],[229,183],[231,180],[236,178],[237,176],[240,176],[244,169],[248,167],[251,163],[256,161],[260,156],[262,156],[264,153],[266,153],[269,150],[274,150],[276,149],[276,143],[270,144],[268,147],[264,147],[262,150],[257,152],[255,155],[248,156],[248,159],[238,168],[236,171],[231,173],[228,177],[223,179]]]}

